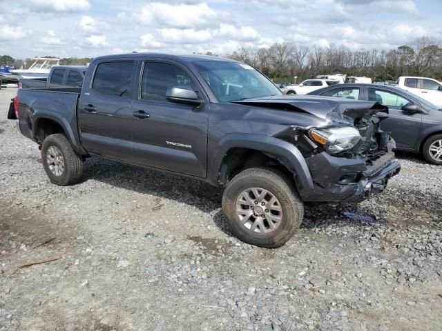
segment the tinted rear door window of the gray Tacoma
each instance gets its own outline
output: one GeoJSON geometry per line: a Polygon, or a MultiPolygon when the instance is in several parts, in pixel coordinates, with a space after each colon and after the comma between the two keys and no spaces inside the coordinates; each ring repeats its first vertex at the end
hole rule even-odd
{"type": "Polygon", "coordinates": [[[100,63],[95,70],[93,90],[111,97],[128,99],[131,96],[133,61],[100,63]]]}

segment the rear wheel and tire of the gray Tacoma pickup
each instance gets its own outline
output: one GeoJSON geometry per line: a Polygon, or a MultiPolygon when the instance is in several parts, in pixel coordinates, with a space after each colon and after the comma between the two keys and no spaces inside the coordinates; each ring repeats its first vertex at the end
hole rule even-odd
{"type": "Polygon", "coordinates": [[[61,133],[50,134],[41,145],[41,161],[50,181],[60,186],[78,183],[84,160],[61,133]]]}

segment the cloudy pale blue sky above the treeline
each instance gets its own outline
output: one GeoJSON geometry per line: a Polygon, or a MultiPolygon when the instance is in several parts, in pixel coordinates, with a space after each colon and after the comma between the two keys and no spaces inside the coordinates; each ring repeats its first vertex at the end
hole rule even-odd
{"type": "Polygon", "coordinates": [[[442,40],[441,0],[0,0],[0,8],[0,54],[16,59],[442,40]]]}

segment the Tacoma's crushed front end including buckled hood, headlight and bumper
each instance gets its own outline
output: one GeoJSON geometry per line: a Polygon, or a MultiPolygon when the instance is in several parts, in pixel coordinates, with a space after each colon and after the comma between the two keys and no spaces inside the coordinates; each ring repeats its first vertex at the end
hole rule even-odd
{"type": "Polygon", "coordinates": [[[313,188],[298,185],[303,201],[363,201],[383,192],[401,169],[394,161],[394,140],[379,128],[388,116],[388,108],[380,103],[316,96],[237,103],[298,114],[290,132],[282,130],[273,137],[293,143],[307,162],[313,188]]]}

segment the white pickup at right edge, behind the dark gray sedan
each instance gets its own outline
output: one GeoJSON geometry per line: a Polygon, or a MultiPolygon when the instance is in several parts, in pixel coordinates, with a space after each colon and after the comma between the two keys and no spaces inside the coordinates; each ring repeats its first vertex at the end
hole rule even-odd
{"type": "Polygon", "coordinates": [[[399,77],[396,81],[399,88],[442,108],[442,84],[436,79],[427,77],[399,77]]]}

